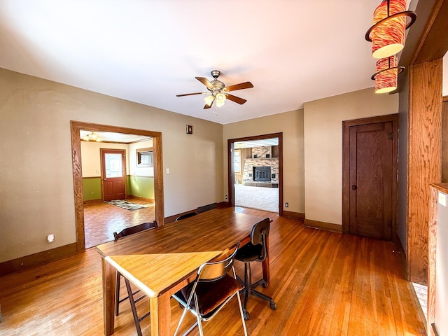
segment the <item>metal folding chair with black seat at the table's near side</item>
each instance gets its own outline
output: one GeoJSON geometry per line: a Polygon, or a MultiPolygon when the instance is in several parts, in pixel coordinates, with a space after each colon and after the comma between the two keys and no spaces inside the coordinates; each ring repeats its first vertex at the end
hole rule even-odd
{"type": "Polygon", "coordinates": [[[233,268],[238,246],[239,243],[228,258],[202,264],[197,270],[195,281],[173,295],[179,304],[184,307],[174,336],[179,332],[187,311],[192,312],[196,316],[197,321],[183,335],[187,335],[197,325],[200,335],[203,336],[202,321],[210,321],[214,318],[235,295],[238,298],[239,314],[243,323],[244,335],[247,336],[241,298],[239,297],[239,290],[242,290],[243,286],[236,279],[235,269],[233,268]],[[229,274],[230,271],[232,271],[232,276],[229,274]]]}

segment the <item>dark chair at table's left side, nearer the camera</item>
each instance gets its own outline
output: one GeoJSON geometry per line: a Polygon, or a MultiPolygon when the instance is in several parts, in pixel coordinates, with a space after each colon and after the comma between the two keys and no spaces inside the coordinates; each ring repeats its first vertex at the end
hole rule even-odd
{"type": "MultiPolygon", "coordinates": [[[[125,228],[125,229],[121,230],[120,232],[113,232],[113,238],[115,241],[117,241],[118,239],[122,239],[123,237],[133,235],[134,233],[157,228],[157,227],[158,227],[158,224],[156,221],[153,221],[152,223],[151,222],[143,223],[143,224],[132,226],[131,228],[125,228]]],[[[120,279],[122,276],[123,275],[117,271],[116,287],[115,287],[115,314],[116,314],[116,316],[118,316],[118,314],[120,314],[120,303],[129,299],[130,304],[131,304],[131,309],[132,309],[132,315],[134,316],[135,328],[137,328],[137,335],[141,336],[140,322],[141,322],[141,320],[143,320],[144,318],[146,318],[149,315],[149,312],[146,313],[144,316],[139,317],[139,315],[137,314],[137,308],[135,307],[135,304],[137,302],[139,302],[140,300],[142,300],[144,297],[146,297],[146,295],[141,293],[141,295],[139,295],[139,297],[137,297],[136,295],[140,292],[140,290],[132,291],[130,281],[123,276],[123,278],[125,279],[125,283],[126,283],[127,297],[123,297],[122,299],[120,299],[120,279]]]]}

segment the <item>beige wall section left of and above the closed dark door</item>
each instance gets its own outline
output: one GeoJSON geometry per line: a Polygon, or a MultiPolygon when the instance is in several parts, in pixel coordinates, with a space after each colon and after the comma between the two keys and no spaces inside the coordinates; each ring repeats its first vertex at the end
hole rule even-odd
{"type": "Polygon", "coordinates": [[[342,121],[398,113],[398,94],[373,88],[304,104],[305,215],[342,225],[342,121]]]}

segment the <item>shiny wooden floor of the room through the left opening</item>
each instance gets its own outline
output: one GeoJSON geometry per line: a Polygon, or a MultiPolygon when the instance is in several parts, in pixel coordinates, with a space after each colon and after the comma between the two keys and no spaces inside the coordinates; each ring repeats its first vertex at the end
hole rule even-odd
{"type": "MultiPolygon", "coordinates": [[[[134,198],[127,201],[136,204],[151,204],[134,198]]],[[[104,202],[84,204],[85,247],[90,248],[111,241],[113,232],[152,222],[154,218],[154,204],[139,210],[121,209],[104,202]]]]}

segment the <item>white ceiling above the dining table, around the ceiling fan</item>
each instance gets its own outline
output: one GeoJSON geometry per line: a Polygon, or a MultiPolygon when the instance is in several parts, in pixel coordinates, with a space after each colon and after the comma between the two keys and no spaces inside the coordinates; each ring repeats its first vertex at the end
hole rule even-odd
{"type": "MultiPolygon", "coordinates": [[[[0,0],[0,67],[226,124],[372,87],[380,0],[0,0]],[[251,81],[204,110],[204,85],[251,81]]],[[[412,29],[412,27],[410,28],[412,29]]]]}

